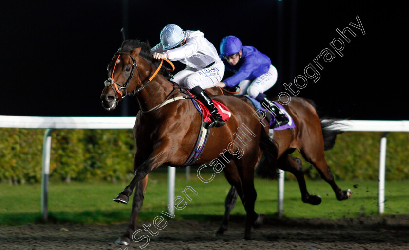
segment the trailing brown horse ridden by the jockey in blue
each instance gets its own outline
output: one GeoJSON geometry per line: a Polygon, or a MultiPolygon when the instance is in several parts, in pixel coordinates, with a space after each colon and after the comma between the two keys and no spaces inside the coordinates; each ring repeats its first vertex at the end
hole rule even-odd
{"type": "MultiPolygon", "coordinates": [[[[208,95],[231,96],[235,94],[219,87],[206,89],[206,92],[208,95]]],[[[254,107],[248,98],[244,96],[237,97],[254,107]]],[[[288,101],[290,100],[283,99],[283,102],[288,101]]],[[[321,197],[319,195],[310,195],[307,191],[301,160],[289,155],[297,149],[304,159],[318,170],[321,178],[331,185],[338,200],[348,199],[352,194],[351,190],[343,191],[338,188],[324,158],[324,150],[332,149],[335,144],[336,135],[342,133],[339,130],[330,129],[330,126],[335,124],[336,120],[320,122],[314,103],[302,98],[292,97],[289,104],[285,105],[285,108],[293,117],[296,128],[274,131],[274,141],[277,143],[279,150],[277,167],[281,170],[289,171],[297,178],[303,202],[312,205],[320,204],[321,197]],[[321,124],[317,126],[319,122],[321,124]]],[[[229,215],[234,208],[237,196],[236,188],[232,186],[225,199],[223,221],[216,234],[223,234],[227,230],[229,215]]]]}

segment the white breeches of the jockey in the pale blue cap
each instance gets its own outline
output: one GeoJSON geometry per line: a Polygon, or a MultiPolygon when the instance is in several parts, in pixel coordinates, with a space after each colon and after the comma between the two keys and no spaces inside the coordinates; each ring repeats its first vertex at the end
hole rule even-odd
{"type": "Polygon", "coordinates": [[[186,67],[173,76],[172,81],[186,88],[200,86],[207,89],[216,86],[224,76],[224,64],[222,61],[216,62],[208,68],[201,70],[186,67]]]}

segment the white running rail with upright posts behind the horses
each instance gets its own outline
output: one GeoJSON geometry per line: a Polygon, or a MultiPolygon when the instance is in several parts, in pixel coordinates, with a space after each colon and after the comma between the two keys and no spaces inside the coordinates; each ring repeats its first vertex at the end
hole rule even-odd
{"type": "MultiPolygon", "coordinates": [[[[47,219],[48,177],[50,173],[51,132],[55,129],[132,129],[135,117],[37,117],[37,116],[2,116],[0,128],[46,129],[43,142],[42,177],[41,177],[41,212],[47,219]]],[[[342,131],[384,132],[379,153],[379,213],[384,212],[385,202],[385,159],[387,132],[409,132],[409,121],[347,120],[341,121],[332,129],[342,131]]],[[[175,168],[169,167],[168,201],[173,204],[175,168]]],[[[284,178],[279,179],[278,213],[282,215],[284,199],[284,178]]],[[[172,208],[171,208],[172,209],[172,208]]]]}

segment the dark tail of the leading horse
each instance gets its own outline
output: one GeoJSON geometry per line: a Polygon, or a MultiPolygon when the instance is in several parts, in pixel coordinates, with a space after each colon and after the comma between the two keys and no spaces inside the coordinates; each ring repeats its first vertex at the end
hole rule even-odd
{"type": "Polygon", "coordinates": [[[277,179],[277,156],[278,156],[278,146],[273,140],[270,140],[268,133],[264,130],[261,125],[261,138],[260,138],[260,149],[262,150],[262,159],[260,160],[259,166],[256,168],[256,174],[261,178],[267,179],[277,179]]]}

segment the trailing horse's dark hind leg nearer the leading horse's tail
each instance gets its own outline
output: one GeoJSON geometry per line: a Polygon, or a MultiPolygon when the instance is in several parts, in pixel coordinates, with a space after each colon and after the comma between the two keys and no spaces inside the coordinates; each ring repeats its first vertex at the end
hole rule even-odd
{"type": "Polygon", "coordinates": [[[312,205],[318,205],[321,203],[321,197],[319,195],[310,195],[307,191],[304,172],[302,170],[301,160],[299,158],[286,154],[282,155],[278,159],[278,163],[281,170],[288,171],[297,178],[299,190],[301,192],[301,200],[304,203],[309,203],[312,205]]]}

